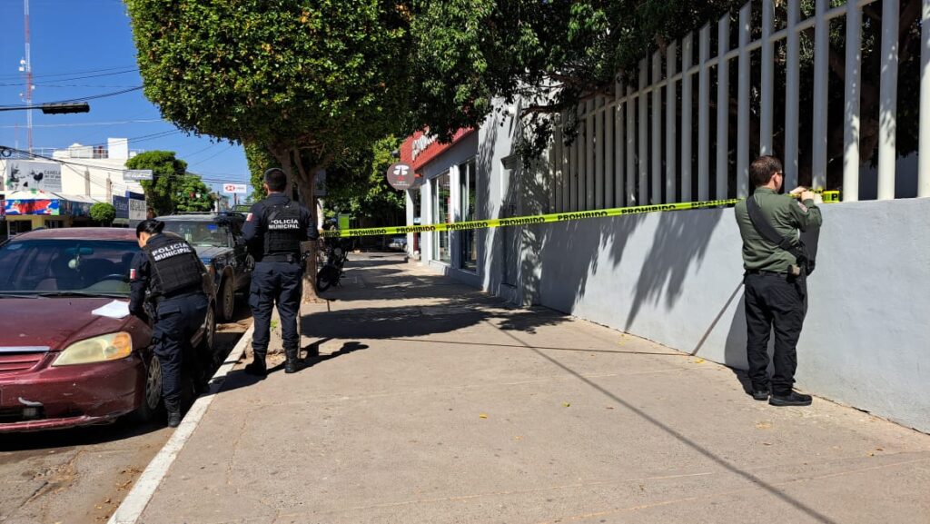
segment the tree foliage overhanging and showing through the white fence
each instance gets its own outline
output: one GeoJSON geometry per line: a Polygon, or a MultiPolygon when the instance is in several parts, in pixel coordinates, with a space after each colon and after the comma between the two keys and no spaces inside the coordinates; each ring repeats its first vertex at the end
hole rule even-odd
{"type": "MultiPolygon", "coordinates": [[[[448,0],[415,4],[412,34],[416,38],[412,59],[414,121],[448,139],[462,127],[477,127],[494,109],[496,98],[507,103],[521,101],[525,156],[538,155],[551,141],[553,117],[565,112],[566,136],[572,140],[578,123],[574,121],[579,102],[599,94],[613,94],[618,73],[633,87],[638,79],[639,61],[667,44],[697,31],[711,22],[715,33],[725,13],[735,16],[746,0],[448,0]],[[572,111],[567,111],[572,110],[572,111]]],[[[775,3],[776,27],[784,25],[786,4],[775,3]]],[[[844,5],[832,0],[832,7],[844,5]]],[[[813,15],[814,0],[801,2],[802,16],[813,15]]],[[[908,155],[916,147],[918,114],[918,75],[920,60],[921,0],[902,0],[898,86],[898,154],[908,155]]],[[[880,8],[863,8],[862,24],[862,160],[873,158],[878,141],[879,78],[882,24],[880,8]]],[[[753,7],[753,27],[761,24],[761,9],[753,7]]],[[[736,45],[736,21],[731,30],[736,45]]],[[[844,21],[830,24],[829,151],[830,173],[835,180],[842,170],[844,111],[844,21]]],[[[754,36],[758,37],[758,36],[754,36]]],[[[715,37],[714,37],[715,39],[715,37]]],[[[812,104],[814,29],[802,34],[802,114],[812,104]]],[[[711,54],[716,53],[716,43],[711,54]]],[[[681,47],[679,47],[679,51],[681,47]]],[[[697,43],[695,45],[697,53],[697,43]]],[[[752,54],[751,92],[752,133],[758,137],[758,93],[760,54],[752,54]]],[[[776,53],[776,77],[783,78],[786,54],[776,53]]],[[[731,74],[737,74],[731,67],[731,74]]],[[[783,97],[784,84],[776,83],[776,100],[783,97]]],[[[736,86],[736,76],[731,79],[736,86]]],[[[695,89],[697,96],[697,89],[695,89]]],[[[680,97],[680,94],[679,94],[680,97]]],[[[781,99],[783,100],[783,99],[781,99]]],[[[714,102],[711,102],[714,103],[714,102]]],[[[697,107],[697,106],[696,106],[697,107]]],[[[737,99],[730,100],[731,134],[736,132],[737,99]]],[[[784,122],[784,104],[776,104],[775,122],[784,122]]],[[[776,154],[781,155],[783,128],[776,128],[776,154]]],[[[813,136],[809,124],[800,129],[801,179],[810,179],[809,157],[813,136]]],[[[730,143],[735,143],[731,138],[730,143]]],[[[731,169],[732,171],[733,169],[731,169]]]]}

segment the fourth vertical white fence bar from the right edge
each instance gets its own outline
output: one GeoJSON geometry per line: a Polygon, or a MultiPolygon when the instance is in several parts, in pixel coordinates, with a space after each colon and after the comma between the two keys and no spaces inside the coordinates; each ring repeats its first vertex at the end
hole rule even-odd
{"type": "Polygon", "coordinates": [[[830,20],[827,20],[828,0],[817,0],[814,25],[814,143],[811,147],[811,185],[816,189],[827,186],[827,57],[830,41],[827,39],[830,20]]]}

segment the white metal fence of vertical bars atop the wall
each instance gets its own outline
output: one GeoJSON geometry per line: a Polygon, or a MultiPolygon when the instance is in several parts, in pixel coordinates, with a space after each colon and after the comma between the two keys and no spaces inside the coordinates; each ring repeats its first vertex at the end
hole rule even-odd
{"type": "MultiPolygon", "coordinates": [[[[736,48],[730,48],[731,17],[716,23],[716,53],[711,57],[709,22],[697,32],[698,60],[692,63],[695,34],[672,42],[650,62],[639,64],[635,78],[638,87],[618,79],[614,96],[583,102],[578,106],[578,137],[565,144],[556,129],[551,160],[553,164],[550,205],[557,211],[611,208],[727,198],[749,195],[751,162],[751,53],[761,52],[759,98],[759,154],[771,155],[776,103],[784,104],[785,185],[798,183],[799,128],[813,126],[811,175],[814,187],[824,187],[827,175],[828,134],[828,37],[830,20],[845,17],[844,157],[843,200],[859,198],[859,124],[862,8],[878,0],[857,0],[830,7],[829,0],[816,0],[814,15],[800,20],[799,0],[787,1],[785,27],[774,27],[773,0],[762,1],[761,28],[751,23],[752,3],[739,10],[736,48]],[[801,34],[814,29],[814,90],[811,120],[802,121],[800,104],[801,34]],[[760,34],[752,39],[752,34],[760,34]],[[775,49],[785,41],[784,99],[776,100],[775,49]],[[679,49],[681,52],[679,52],[679,49]],[[663,60],[664,59],[664,60],[663,60]],[[736,60],[736,63],[733,63],[736,60]],[[664,61],[664,67],[663,67],[664,61]],[[729,68],[737,68],[737,129],[730,129],[729,68]],[[711,72],[716,68],[715,147],[711,150],[711,72]],[[697,83],[697,103],[694,89],[697,83]],[[664,89],[664,92],[663,92],[664,89]],[[665,103],[663,104],[663,94],[665,103]],[[651,97],[651,104],[649,103],[651,97]],[[663,105],[665,114],[663,114],[663,105]],[[697,108],[694,106],[697,105],[697,108]],[[697,109],[697,111],[696,111],[697,109]],[[693,159],[693,118],[697,113],[697,168],[693,159]],[[664,125],[663,125],[664,118],[664,125]],[[650,133],[651,130],[651,133],[650,133]],[[664,131],[664,141],[663,141],[664,131]],[[736,140],[736,187],[729,187],[730,143],[736,140]],[[714,168],[711,171],[711,155],[714,168]],[[684,161],[683,161],[684,160],[684,161]],[[694,172],[696,171],[696,172],[694,172]],[[711,173],[713,180],[711,180],[711,173]],[[693,177],[697,176],[697,184],[693,177]],[[697,187],[696,194],[692,186],[697,187]]],[[[758,5],[758,3],[756,3],[758,5]]],[[[930,108],[930,0],[923,0],[920,40],[920,106],[930,108]]],[[[882,0],[882,34],[897,35],[899,0],[882,0]]],[[[882,38],[879,94],[878,190],[879,199],[895,197],[897,159],[897,78],[898,40],[882,38]]],[[[833,87],[838,88],[838,87],[833,87]]],[[[563,115],[563,121],[565,121],[563,115]]],[[[917,195],[930,196],[930,115],[921,114],[918,144],[917,195]]]]}

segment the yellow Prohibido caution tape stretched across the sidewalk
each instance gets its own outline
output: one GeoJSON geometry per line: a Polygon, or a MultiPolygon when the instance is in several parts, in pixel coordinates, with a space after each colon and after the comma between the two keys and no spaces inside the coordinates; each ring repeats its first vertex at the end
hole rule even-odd
{"type": "MultiPolygon", "coordinates": [[[[824,202],[839,201],[839,192],[825,191],[824,202]],[[828,199],[828,194],[830,198],[828,199]],[[835,194],[835,195],[832,195],[835,194]]],[[[492,227],[509,227],[514,225],[535,225],[538,223],[568,222],[587,219],[603,219],[606,217],[619,217],[640,213],[658,213],[662,211],[682,211],[685,209],[720,208],[734,206],[739,202],[737,198],[727,200],[709,200],[706,202],[680,202],[677,204],[657,204],[655,206],[632,206],[629,208],[594,209],[591,211],[571,211],[565,213],[551,213],[548,215],[526,215],[509,219],[488,219],[486,221],[431,223],[427,225],[399,225],[391,227],[373,227],[366,229],[345,229],[341,231],[323,231],[321,236],[376,236],[376,235],[406,235],[408,233],[434,233],[437,231],[467,231],[474,229],[489,229],[492,227]]]]}

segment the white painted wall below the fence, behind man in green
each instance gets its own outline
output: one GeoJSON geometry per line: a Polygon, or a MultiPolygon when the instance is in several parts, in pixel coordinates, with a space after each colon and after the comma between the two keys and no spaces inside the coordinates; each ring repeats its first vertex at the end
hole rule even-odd
{"type": "MultiPolygon", "coordinates": [[[[930,199],[823,214],[798,385],[930,432],[930,199]]],[[[542,305],[746,369],[732,209],[529,229],[543,239],[542,305]]]]}

